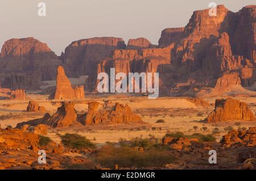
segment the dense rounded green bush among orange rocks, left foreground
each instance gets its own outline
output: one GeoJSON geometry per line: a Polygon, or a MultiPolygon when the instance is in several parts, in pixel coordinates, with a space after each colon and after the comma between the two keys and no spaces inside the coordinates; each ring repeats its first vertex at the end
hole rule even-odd
{"type": "Polygon", "coordinates": [[[72,149],[95,148],[95,145],[90,140],[79,134],[66,133],[64,136],[61,136],[61,142],[64,146],[72,149]]]}

